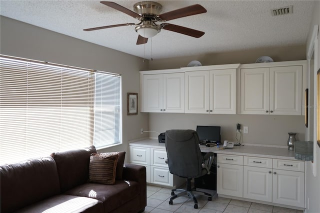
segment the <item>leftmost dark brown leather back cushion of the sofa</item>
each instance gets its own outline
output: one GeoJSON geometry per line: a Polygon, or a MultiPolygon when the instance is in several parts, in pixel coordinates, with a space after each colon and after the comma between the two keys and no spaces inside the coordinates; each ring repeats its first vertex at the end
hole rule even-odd
{"type": "Polygon", "coordinates": [[[0,166],[0,212],[12,212],[60,193],[52,157],[42,157],[0,166]]]}

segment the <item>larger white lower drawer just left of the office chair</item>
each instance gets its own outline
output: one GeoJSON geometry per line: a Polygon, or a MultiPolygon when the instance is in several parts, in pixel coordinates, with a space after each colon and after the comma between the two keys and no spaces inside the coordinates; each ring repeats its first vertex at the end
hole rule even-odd
{"type": "Polygon", "coordinates": [[[173,174],[169,172],[168,168],[150,166],[150,182],[172,186],[173,174]]]}

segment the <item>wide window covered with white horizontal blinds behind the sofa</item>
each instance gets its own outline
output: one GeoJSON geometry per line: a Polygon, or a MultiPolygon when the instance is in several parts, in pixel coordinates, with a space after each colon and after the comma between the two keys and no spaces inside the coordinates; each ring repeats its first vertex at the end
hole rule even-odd
{"type": "Polygon", "coordinates": [[[121,76],[0,57],[0,162],[121,143],[121,76]]]}

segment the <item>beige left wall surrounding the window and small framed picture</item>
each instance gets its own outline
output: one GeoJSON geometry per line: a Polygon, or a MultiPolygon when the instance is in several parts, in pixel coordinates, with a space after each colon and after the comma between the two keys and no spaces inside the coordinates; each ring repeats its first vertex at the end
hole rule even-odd
{"type": "MultiPolygon", "coordinates": [[[[126,93],[139,93],[142,58],[0,16],[0,53],[35,60],[91,68],[122,75],[122,145],[101,151],[128,151],[128,140],[147,129],[148,115],[126,115],[126,93]]],[[[54,150],[53,150],[54,151],[54,150]]],[[[127,152],[128,153],[128,152],[127,152]]],[[[127,159],[127,156],[126,156],[127,159]]]]}

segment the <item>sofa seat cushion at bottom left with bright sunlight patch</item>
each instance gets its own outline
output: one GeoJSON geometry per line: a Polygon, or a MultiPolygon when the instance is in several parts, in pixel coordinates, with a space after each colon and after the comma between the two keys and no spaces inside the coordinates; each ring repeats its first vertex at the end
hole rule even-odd
{"type": "Polygon", "coordinates": [[[85,212],[103,213],[103,204],[97,199],[83,196],[59,194],[26,206],[14,213],[57,213],[57,212],[85,212]]]}

